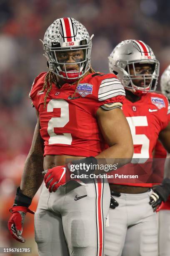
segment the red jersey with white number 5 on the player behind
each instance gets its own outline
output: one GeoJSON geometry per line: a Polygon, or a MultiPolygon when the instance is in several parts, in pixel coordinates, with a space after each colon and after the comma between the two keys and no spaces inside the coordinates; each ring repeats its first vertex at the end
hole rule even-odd
{"type": "MultiPolygon", "coordinates": [[[[148,92],[137,102],[130,102],[125,98],[122,110],[128,120],[133,137],[132,162],[135,163],[135,159],[138,159],[138,164],[128,164],[118,170],[124,174],[139,174],[139,180],[129,183],[130,179],[121,179],[120,182],[123,185],[152,187],[153,184],[147,182],[154,180],[154,177],[151,176],[153,149],[160,131],[168,125],[168,100],[162,94],[148,92]]],[[[114,183],[114,180],[109,179],[109,182],[114,183]]]]}

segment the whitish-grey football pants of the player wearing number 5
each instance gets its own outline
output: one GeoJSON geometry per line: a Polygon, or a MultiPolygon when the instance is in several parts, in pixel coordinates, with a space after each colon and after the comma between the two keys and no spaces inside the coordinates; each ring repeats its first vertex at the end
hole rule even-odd
{"type": "Polygon", "coordinates": [[[151,193],[114,197],[119,205],[109,210],[105,256],[158,256],[158,221],[149,205],[151,193]]]}

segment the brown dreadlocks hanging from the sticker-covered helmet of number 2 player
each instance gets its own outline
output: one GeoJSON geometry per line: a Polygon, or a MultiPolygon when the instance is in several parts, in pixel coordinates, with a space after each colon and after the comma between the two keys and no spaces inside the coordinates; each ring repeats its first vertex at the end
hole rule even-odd
{"type": "MultiPolygon", "coordinates": [[[[92,73],[96,73],[94,69],[92,69],[92,66],[90,65],[90,69],[87,71],[87,73],[85,73],[82,77],[80,77],[80,79],[77,80],[77,86],[80,84],[80,81],[87,76],[88,74],[92,74],[92,73]]],[[[57,81],[57,76],[52,73],[52,71],[48,71],[46,76],[45,76],[45,80],[44,80],[44,86],[42,88],[42,92],[44,92],[45,90],[47,90],[45,97],[44,97],[44,108],[46,108],[46,100],[47,100],[47,96],[49,94],[49,92],[52,89],[52,83],[54,83],[56,86],[60,87],[57,81]]],[[[73,83],[72,83],[73,84],[73,83]]],[[[73,93],[72,97],[74,97],[75,93],[76,93],[76,89],[77,86],[75,88],[75,92],[73,93]]]]}

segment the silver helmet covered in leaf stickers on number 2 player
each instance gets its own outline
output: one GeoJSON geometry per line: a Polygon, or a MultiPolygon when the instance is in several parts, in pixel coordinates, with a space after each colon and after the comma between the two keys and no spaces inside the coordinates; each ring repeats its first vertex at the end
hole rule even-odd
{"type": "Polygon", "coordinates": [[[87,29],[73,18],[55,20],[47,28],[42,41],[49,69],[66,81],[74,82],[82,77],[90,69],[92,36],[90,38],[87,29]],[[83,50],[84,52],[84,58],[77,59],[74,63],[79,65],[79,72],[67,71],[66,66],[70,63],[60,62],[56,56],[58,51],[66,53],[74,50],[83,50]]]}

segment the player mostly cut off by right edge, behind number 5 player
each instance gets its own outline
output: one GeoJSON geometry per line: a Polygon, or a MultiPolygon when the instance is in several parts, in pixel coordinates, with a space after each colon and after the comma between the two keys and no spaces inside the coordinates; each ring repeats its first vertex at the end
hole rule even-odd
{"type": "MultiPolygon", "coordinates": [[[[170,65],[165,69],[161,78],[160,78],[160,88],[163,95],[168,98],[170,102],[170,65]]],[[[170,106],[168,108],[168,120],[170,122],[170,106]]],[[[169,135],[170,136],[170,135],[169,135]]],[[[163,158],[170,157],[167,155],[167,151],[160,143],[157,141],[155,146],[155,158],[163,158]]],[[[156,168],[156,166],[155,166],[156,168]]],[[[163,169],[163,164],[162,164],[163,169]]],[[[160,169],[160,172],[162,171],[160,169]]],[[[158,248],[159,248],[159,256],[169,256],[170,255],[170,196],[168,200],[163,203],[163,206],[159,211],[159,229],[158,229],[158,248]]]]}

